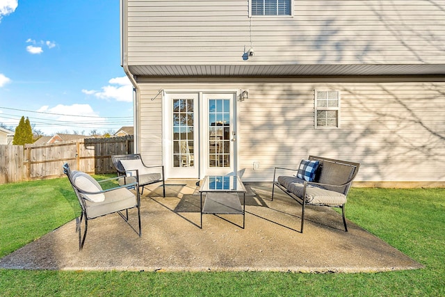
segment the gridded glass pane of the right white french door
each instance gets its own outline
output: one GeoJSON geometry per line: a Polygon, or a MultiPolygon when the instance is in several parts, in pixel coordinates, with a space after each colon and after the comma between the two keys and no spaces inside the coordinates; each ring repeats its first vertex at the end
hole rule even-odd
{"type": "Polygon", "coordinates": [[[209,99],[209,167],[230,167],[230,99],[209,99]]]}

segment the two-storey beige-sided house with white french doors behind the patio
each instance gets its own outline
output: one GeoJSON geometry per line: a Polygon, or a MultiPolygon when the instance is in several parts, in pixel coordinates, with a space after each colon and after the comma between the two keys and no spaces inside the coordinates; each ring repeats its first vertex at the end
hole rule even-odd
{"type": "Polygon", "coordinates": [[[120,3],[135,151],[165,177],[271,182],[313,154],[445,184],[445,1],[120,3]]]}

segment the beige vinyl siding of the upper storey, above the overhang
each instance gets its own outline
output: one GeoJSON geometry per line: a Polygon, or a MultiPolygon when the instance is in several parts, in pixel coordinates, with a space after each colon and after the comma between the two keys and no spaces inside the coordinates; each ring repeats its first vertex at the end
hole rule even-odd
{"type": "Polygon", "coordinates": [[[294,1],[293,17],[252,18],[248,1],[128,4],[129,65],[445,63],[444,50],[441,1],[294,1]]]}

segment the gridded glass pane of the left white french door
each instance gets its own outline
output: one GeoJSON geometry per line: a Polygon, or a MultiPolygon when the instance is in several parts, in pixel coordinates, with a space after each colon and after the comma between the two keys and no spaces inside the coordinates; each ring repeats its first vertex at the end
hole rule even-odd
{"type": "Polygon", "coordinates": [[[193,99],[173,99],[173,167],[194,167],[193,99]]]}

